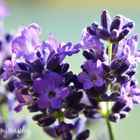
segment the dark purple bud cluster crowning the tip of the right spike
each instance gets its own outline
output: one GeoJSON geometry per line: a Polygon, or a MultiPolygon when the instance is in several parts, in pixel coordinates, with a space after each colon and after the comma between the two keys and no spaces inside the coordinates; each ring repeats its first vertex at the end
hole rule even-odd
{"type": "Polygon", "coordinates": [[[87,31],[93,36],[114,43],[124,39],[133,27],[134,22],[130,19],[118,15],[111,20],[110,14],[104,10],[101,14],[101,25],[93,23],[87,31]]]}

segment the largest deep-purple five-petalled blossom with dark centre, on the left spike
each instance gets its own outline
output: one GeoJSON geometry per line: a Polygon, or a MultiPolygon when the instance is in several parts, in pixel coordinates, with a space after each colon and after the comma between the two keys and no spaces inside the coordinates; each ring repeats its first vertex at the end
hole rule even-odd
{"type": "Polygon", "coordinates": [[[63,77],[53,72],[47,73],[43,79],[39,78],[34,81],[33,90],[40,94],[39,108],[62,108],[65,98],[69,95],[68,88],[60,86],[62,82],[63,77]]]}

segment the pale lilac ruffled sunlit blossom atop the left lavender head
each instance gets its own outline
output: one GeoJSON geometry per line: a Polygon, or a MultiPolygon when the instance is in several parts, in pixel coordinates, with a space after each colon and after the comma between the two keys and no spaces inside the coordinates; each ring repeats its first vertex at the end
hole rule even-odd
{"type": "Polygon", "coordinates": [[[16,58],[23,56],[28,61],[36,60],[36,53],[41,49],[40,33],[41,29],[37,24],[19,29],[19,35],[12,42],[12,51],[16,54],[16,58]]]}

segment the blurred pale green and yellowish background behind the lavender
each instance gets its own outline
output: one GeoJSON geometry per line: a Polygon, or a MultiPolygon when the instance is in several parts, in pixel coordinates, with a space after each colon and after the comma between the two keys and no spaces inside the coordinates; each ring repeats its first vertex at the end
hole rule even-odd
{"type": "MultiPolygon", "coordinates": [[[[123,14],[135,21],[135,33],[140,34],[140,1],[139,0],[7,0],[11,15],[5,20],[6,31],[16,32],[19,25],[38,23],[43,33],[41,39],[47,39],[50,32],[54,33],[59,41],[77,43],[81,38],[81,31],[92,21],[100,20],[102,9],[108,10],[112,16],[123,14]],[[12,29],[12,30],[11,30],[12,29]]],[[[74,56],[70,62],[71,69],[78,73],[83,59],[74,56]]],[[[138,79],[140,72],[138,71],[138,79]]],[[[29,118],[31,134],[23,140],[50,140],[35,122],[26,109],[20,116],[29,118]]],[[[98,140],[99,135],[107,133],[105,122],[93,123],[91,131],[95,136],[91,140],[98,140]]],[[[140,106],[134,106],[129,117],[114,124],[116,140],[140,139],[140,106]]]]}

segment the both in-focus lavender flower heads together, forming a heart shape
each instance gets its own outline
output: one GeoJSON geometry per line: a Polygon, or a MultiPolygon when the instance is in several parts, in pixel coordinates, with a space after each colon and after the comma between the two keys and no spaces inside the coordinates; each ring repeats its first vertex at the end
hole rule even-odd
{"type": "Polygon", "coordinates": [[[3,81],[17,79],[15,110],[27,106],[30,112],[39,112],[33,120],[48,135],[62,140],[86,140],[89,119],[125,118],[133,104],[140,104],[135,80],[138,37],[127,37],[133,28],[130,19],[119,15],[111,20],[103,11],[101,25],[85,28],[80,43],[72,45],[59,43],[53,34],[40,41],[37,24],[20,27],[11,43],[12,58],[4,62],[0,76],[3,81]],[[76,75],[64,59],[80,50],[86,60],[76,75]]]}

